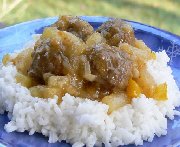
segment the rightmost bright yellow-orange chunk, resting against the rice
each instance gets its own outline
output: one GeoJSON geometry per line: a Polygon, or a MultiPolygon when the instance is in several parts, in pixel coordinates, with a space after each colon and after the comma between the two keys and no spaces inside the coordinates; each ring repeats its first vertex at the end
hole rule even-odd
{"type": "Polygon", "coordinates": [[[153,98],[156,100],[167,100],[167,84],[163,83],[155,88],[153,98]]]}

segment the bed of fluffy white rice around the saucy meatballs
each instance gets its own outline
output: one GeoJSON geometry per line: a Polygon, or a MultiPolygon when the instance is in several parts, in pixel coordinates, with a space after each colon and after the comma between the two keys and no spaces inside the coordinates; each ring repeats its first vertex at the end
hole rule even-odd
{"type": "Polygon", "coordinates": [[[89,99],[75,98],[69,94],[60,105],[57,97],[41,99],[32,97],[27,88],[15,82],[16,67],[0,66],[0,113],[8,111],[11,121],[5,125],[7,132],[41,132],[49,142],[66,140],[73,147],[86,145],[118,146],[142,145],[151,142],[155,135],[167,134],[167,117],[174,118],[175,107],[180,105],[180,91],[167,66],[165,51],[156,53],[157,59],[148,61],[148,71],[157,84],[167,82],[168,100],[158,102],[141,95],[108,115],[108,106],[89,99]]]}

